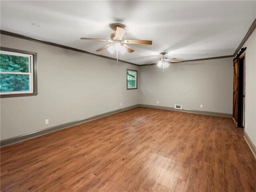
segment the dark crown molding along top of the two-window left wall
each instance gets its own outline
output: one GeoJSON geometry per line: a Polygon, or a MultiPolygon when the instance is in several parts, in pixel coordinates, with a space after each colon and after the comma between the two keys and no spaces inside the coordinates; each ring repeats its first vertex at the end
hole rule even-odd
{"type": "MultiPolygon", "coordinates": [[[[65,46],[65,45],[60,45],[60,44],[57,44],[57,43],[52,43],[52,42],[48,42],[48,41],[44,41],[44,40],[40,40],[40,39],[36,39],[36,38],[32,38],[32,37],[20,35],[20,34],[17,34],[17,33],[12,33],[12,32],[8,32],[8,31],[0,30],[0,34],[16,37],[16,38],[20,38],[20,39],[25,39],[25,40],[29,40],[29,41],[34,41],[34,42],[38,42],[38,43],[42,43],[42,44],[46,44],[46,45],[50,45],[50,46],[55,46],[55,47],[59,47],[59,48],[64,48],[64,49],[68,49],[68,50],[72,50],[72,51],[77,51],[77,52],[81,52],[81,53],[85,53],[85,54],[89,54],[89,55],[93,55],[93,56],[102,57],[102,58],[106,58],[106,59],[116,61],[116,58],[112,58],[112,57],[108,57],[108,56],[104,56],[104,55],[98,55],[98,54],[87,52],[87,51],[84,51],[84,50],[81,50],[81,49],[76,49],[76,48],[68,47],[68,46],[65,46]]],[[[123,62],[123,63],[127,63],[127,64],[131,64],[131,65],[135,65],[135,66],[140,66],[138,64],[123,61],[123,60],[118,60],[118,61],[123,62]]]]}

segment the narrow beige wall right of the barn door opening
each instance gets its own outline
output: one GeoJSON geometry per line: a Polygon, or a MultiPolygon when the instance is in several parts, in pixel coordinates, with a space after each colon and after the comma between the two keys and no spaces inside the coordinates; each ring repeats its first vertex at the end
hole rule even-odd
{"type": "Polygon", "coordinates": [[[245,52],[245,132],[256,146],[256,30],[243,47],[245,52]]]}

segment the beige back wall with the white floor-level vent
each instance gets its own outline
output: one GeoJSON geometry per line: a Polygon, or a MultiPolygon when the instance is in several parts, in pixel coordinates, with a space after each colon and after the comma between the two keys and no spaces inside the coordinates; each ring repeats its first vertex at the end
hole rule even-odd
{"type": "Polygon", "coordinates": [[[232,59],[173,63],[164,72],[140,67],[140,104],[232,114],[232,59]]]}

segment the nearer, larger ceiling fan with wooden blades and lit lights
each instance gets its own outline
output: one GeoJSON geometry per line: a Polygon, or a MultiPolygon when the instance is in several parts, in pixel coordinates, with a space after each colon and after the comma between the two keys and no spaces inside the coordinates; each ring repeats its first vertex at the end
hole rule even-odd
{"type": "Polygon", "coordinates": [[[110,53],[116,51],[116,57],[118,61],[118,52],[124,53],[128,51],[129,53],[134,52],[132,48],[130,48],[126,44],[145,44],[145,45],[152,45],[152,41],[148,40],[124,40],[124,34],[126,33],[126,29],[122,28],[120,25],[114,25],[113,29],[115,30],[114,33],[110,34],[111,40],[106,39],[94,39],[94,38],[80,38],[81,40],[94,40],[94,41],[105,41],[110,42],[110,44],[99,48],[96,51],[102,51],[104,49],[108,49],[110,53]]]}

